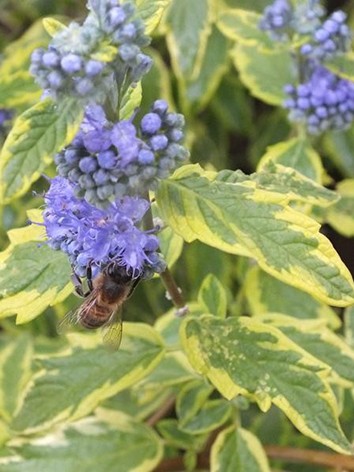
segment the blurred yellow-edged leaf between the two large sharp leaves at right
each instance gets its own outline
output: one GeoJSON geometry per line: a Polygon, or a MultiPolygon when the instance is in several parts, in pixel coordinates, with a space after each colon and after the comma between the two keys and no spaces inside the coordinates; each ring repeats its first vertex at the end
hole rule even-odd
{"type": "Polygon", "coordinates": [[[341,326],[336,312],[306,292],[283,283],[259,267],[252,267],[246,276],[244,294],[250,313],[284,313],[297,319],[320,318],[333,329],[341,326]]]}

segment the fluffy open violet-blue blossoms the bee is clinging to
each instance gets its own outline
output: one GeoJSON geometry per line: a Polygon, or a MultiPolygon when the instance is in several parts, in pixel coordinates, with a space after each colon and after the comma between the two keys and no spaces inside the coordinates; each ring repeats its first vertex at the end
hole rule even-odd
{"type": "Polygon", "coordinates": [[[146,267],[164,269],[158,238],[137,227],[148,210],[146,200],[125,197],[100,209],[77,198],[68,180],[55,177],[45,203],[48,244],[68,254],[78,275],[86,275],[88,265],[95,271],[110,262],[125,266],[132,277],[146,276],[146,267]]]}

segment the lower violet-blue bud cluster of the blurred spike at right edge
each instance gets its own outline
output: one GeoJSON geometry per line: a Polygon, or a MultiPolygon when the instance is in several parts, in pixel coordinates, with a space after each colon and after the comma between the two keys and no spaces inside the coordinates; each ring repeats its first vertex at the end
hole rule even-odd
{"type": "Polygon", "coordinates": [[[314,68],[309,80],[286,87],[284,106],[292,121],[302,122],[311,134],[348,127],[354,119],[354,83],[325,69],[314,68]]]}

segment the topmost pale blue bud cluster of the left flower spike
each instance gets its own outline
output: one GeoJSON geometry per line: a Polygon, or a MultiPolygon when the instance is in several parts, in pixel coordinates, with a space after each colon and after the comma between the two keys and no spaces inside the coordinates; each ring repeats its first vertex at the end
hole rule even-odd
{"type": "Polygon", "coordinates": [[[48,49],[32,53],[30,71],[53,98],[74,96],[103,103],[112,87],[134,84],[152,61],[141,52],[149,43],[135,7],[116,0],[91,0],[85,22],[55,34],[48,49]]]}

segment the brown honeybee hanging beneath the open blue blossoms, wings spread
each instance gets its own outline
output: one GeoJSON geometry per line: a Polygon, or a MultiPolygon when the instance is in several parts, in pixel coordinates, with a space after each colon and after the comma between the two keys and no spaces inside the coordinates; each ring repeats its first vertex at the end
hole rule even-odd
{"type": "Polygon", "coordinates": [[[72,324],[86,329],[103,328],[103,342],[111,349],[118,349],[122,340],[121,307],[135,289],[139,278],[132,278],[126,268],[111,263],[92,279],[91,268],[87,271],[88,291],[83,291],[80,277],[73,272],[77,294],[84,298],[81,306],[68,313],[59,323],[59,333],[72,324]]]}

